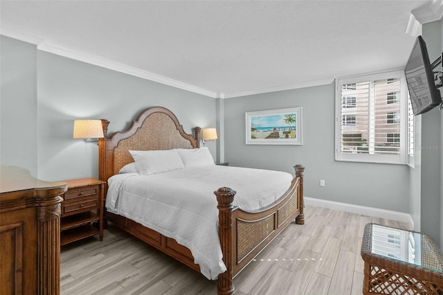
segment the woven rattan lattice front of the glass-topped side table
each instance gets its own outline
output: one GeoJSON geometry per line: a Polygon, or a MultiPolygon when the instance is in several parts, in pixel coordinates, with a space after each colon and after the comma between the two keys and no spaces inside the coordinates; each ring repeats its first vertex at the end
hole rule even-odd
{"type": "Polygon", "coordinates": [[[413,276],[396,274],[386,269],[370,267],[369,292],[376,294],[443,294],[443,288],[417,280],[413,276]]]}

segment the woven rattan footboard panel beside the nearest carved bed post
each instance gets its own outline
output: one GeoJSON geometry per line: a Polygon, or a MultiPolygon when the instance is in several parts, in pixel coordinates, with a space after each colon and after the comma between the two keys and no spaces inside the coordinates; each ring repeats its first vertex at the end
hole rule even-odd
{"type": "Polygon", "coordinates": [[[237,262],[274,231],[274,216],[270,215],[256,222],[237,220],[237,262]]]}

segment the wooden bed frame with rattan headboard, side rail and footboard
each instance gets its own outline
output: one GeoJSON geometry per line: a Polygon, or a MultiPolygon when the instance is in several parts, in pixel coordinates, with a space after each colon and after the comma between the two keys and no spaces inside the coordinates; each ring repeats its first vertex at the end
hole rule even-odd
{"type": "MultiPolygon", "coordinates": [[[[195,136],[186,134],[177,117],[163,107],[145,109],[132,122],[129,129],[125,132],[116,132],[109,138],[107,138],[109,121],[102,119],[102,125],[105,138],[99,140],[99,177],[103,181],[118,174],[120,168],[134,161],[129,150],[199,147],[201,128],[195,127],[195,136]]],[[[217,294],[233,294],[233,278],[239,271],[294,219],[297,224],[305,223],[302,197],[305,168],[300,165],[294,168],[296,177],[287,192],[277,202],[253,213],[233,206],[235,196],[233,189],[215,188],[219,209],[219,238],[227,268],[218,276],[217,294]]],[[[105,218],[192,269],[200,270],[199,265],[194,263],[190,250],[174,239],[120,215],[106,212],[105,218]]]]}

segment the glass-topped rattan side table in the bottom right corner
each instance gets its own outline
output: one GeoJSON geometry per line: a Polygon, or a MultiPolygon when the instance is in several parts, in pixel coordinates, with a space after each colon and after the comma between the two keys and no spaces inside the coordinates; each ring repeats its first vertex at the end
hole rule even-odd
{"type": "Polygon", "coordinates": [[[443,294],[443,256],[423,233],[366,224],[363,294],[443,294]]]}

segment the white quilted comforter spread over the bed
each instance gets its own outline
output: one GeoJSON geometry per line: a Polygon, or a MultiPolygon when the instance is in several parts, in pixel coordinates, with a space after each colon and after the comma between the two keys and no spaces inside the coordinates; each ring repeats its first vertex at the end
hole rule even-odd
{"type": "Polygon", "coordinates": [[[235,190],[234,206],[254,211],[274,202],[289,188],[287,172],[204,166],[155,175],[127,173],[108,181],[106,207],[188,247],[201,274],[214,280],[226,271],[218,238],[214,191],[235,190]]]}

